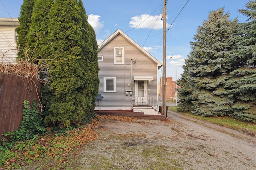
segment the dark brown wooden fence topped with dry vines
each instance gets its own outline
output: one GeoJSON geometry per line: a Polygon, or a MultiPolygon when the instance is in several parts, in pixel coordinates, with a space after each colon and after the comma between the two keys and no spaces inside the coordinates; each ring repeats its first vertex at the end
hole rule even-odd
{"type": "Polygon", "coordinates": [[[22,121],[23,101],[39,100],[40,81],[36,64],[0,64],[0,139],[18,129],[22,121]]]}

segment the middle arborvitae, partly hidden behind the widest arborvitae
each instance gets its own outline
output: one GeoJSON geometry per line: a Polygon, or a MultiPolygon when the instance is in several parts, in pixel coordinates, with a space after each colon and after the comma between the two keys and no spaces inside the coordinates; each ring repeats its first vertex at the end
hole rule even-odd
{"type": "Polygon", "coordinates": [[[27,40],[30,44],[31,58],[30,62],[38,64],[38,76],[42,80],[40,88],[40,99],[43,106],[42,112],[48,111],[48,99],[52,96],[49,88],[48,65],[46,58],[50,55],[49,36],[49,12],[54,0],[36,0],[34,11],[31,17],[31,24],[27,34],[27,40]]]}

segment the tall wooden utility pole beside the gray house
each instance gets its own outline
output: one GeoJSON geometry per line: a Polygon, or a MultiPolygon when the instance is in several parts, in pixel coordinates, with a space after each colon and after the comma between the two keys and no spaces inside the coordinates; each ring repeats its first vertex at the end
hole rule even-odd
{"type": "Polygon", "coordinates": [[[163,78],[162,78],[162,113],[164,113],[165,118],[167,118],[166,113],[166,0],[164,0],[162,18],[164,21],[163,28],[163,78]]]}

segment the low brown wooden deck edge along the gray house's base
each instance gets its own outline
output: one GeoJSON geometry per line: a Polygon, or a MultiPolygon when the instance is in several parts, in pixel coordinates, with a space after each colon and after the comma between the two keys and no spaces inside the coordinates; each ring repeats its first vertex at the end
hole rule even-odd
{"type": "Polygon", "coordinates": [[[137,119],[165,120],[164,115],[144,115],[143,112],[132,111],[96,111],[98,115],[128,116],[137,119]]]}

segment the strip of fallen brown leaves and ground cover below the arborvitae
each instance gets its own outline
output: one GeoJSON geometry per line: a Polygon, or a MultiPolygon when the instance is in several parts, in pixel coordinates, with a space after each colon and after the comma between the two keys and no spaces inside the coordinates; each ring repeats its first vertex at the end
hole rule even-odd
{"type": "MultiPolygon", "coordinates": [[[[116,120],[130,123],[151,124],[148,121],[136,119],[127,116],[97,115],[98,119],[92,119],[92,122],[85,127],[75,128],[65,132],[65,135],[55,135],[54,132],[40,136],[34,141],[23,141],[17,143],[12,150],[13,156],[6,158],[0,165],[2,168],[14,168],[15,166],[27,166],[32,162],[50,158],[52,164],[45,164],[47,169],[55,167],[56,164],[68,161],[68,154],[74,150],[90,143],[98,138],[97,128],[101,121],[116,120]]],[[[50,129],[48,129],[49,131],[50,129]]],[[[10,153],[10,154],[11,154],[10,153]]]]}

